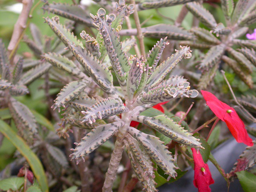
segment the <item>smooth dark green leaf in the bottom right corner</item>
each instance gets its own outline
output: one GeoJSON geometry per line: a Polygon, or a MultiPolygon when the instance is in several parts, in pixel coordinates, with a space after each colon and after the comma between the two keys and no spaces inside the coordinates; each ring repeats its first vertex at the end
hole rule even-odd
{"type": "Polygon", "coordinates": [[[256,175],[247,171],[236,172],[236,175],[244,192],[256,191],[256,175]]]}

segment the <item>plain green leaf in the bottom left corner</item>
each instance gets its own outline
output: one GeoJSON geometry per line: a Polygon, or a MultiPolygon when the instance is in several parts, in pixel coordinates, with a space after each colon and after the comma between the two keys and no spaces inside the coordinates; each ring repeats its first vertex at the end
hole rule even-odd
{"type": "Polygon", "coordinates": [[[0,189],[7,191],[13,190],[18,191],[22,184],[24,183],[24,177],[11,177],[8,179],[3,179],[0,181],[0,189]]]}

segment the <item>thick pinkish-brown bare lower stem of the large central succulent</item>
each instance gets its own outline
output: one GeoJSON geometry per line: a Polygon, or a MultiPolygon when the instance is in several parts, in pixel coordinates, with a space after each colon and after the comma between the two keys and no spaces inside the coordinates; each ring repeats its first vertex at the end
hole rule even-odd
{"type": "Polygon", "coordinates": [[[122,140],[120,140],[118,137],[115,142],[114,151],[111,155],[108,171],[106,172],[106,179],[102,188],[102,192],[112,191],[113,182],[116,179],[116,172],[118,170],[120,160],[122,159],[123,150],[124,142],[122,142],[122,140]]]}

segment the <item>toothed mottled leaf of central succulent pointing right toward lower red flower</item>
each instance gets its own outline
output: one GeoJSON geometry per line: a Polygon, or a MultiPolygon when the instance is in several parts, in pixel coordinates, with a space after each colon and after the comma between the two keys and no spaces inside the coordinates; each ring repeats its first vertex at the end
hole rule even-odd
{"type": "Polygon", "coordinates": [[[155,117],[137,116],[135,118],[137,122],[141,122],[151,128],[154,128],[176,142],[192,146],[194,148],[201,147],[198,139],[194,138],[188,130],[184,129],[184,127],[181,127],[178,123],[165,115],[158,115],[155,117]]]}

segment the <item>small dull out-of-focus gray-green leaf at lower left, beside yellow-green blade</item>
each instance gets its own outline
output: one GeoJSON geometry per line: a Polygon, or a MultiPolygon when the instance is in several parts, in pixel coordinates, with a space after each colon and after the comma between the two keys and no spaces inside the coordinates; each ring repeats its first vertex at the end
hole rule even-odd
{"type": "Polygon", "coordinates": [[[60,164],[63,168],[68,167],[68,161],[62,150],[57,147],[54,147],[50,144],[46,144],[46,148],[48,153],[52,156],[52,158],[60,164]]]}

